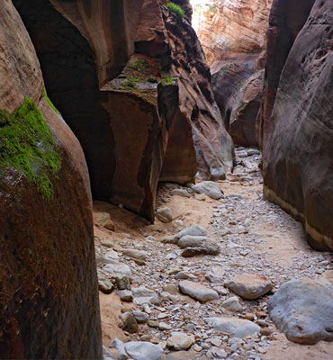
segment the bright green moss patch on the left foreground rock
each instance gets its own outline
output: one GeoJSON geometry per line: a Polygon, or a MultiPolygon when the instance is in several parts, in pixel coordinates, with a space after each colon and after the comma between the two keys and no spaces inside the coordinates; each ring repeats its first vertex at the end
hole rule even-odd
{"type": "Polygon", "coordinates": [[[40,110],[28,97],[13,113],[0,112],[0,174],[8,167],[26,175],[44,199],[53,199],[49,174],[58,175],[62,157],[40,110]]]}

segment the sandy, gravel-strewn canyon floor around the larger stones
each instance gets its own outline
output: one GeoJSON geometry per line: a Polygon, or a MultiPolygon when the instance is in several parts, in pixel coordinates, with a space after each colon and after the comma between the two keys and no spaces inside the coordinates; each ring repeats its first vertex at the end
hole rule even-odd
{"type": "Polygon", "coordinates": [[[165,348],[164,359],[332,359],[333,343],[320,342],[302,346],[285,338],[267,316],[267,301],[285,282],[311,278],[333,284],[333,256],[314,251],[306,243],[302,225],[274,203],[263,198],[260,155],[255,149],[237,148],[237,166],[225,181],[219,181],[224,198],[213,200],[198,195],[189,187],[161,184],[157,208],[167,206],[173,221],[156,221],[148,225],[138,216],[105,202],[94,202],[94,235],[98,271],[103,271],[103,256],[130,266],[131,288],[144,286],[157,293],[155,305],[121,302],[113,291],[100,292],[103,345],[110,348],[113,338],[122,341],[145,340],[165,348]],[[251,155],[252,154],[252,155],[251,155]],[[184,189],[189,197],[171,195],[173,189],[184,189]],[[114,229],[105,229],[104,215],[109,213],[114,229]],[[182,249],[163,243],[166,236],[193,224],[207,229],[210,239],[221,247],[219,256],[182,257],[182,249]],[[146,261],[123,255],[123,249],[146,252],[146,261]],[[180,272],[220,293],[218,300],[196,302],[177,291],[180,272]],[[255,301],[239,298],[241,311],[229,313],[221,303],[235,296],[223,284],[237,274],[265,275],[274,284],[271,293],[255,301]],[[171,286],[166,286],[171,285],[171,286]],[[165,289],[163,289],[165,287],[165,289]],[[224,289],[224,290],[223,290],[224,289]],[[172,296],[166,296],[169,292],[172,296]],[[130,334],[121,329],[121,313],[146,311],[148,323],[130,334]],[[206,319],[237,317],[259,324],[261,334],[247,338],[230,338],[212,329],[206,319]],[[160,323],[163,322],[161,326],[160,323]],[[148,326],[148,324],[150,326],[148,326]],[[181,331],[192,338],[192,347],[184,352],[172,352],[166,347],[172,331],[181,331]]]}

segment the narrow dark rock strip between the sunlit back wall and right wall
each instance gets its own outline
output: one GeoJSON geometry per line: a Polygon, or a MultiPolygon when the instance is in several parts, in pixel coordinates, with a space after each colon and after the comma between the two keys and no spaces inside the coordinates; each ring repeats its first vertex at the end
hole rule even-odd
{"type": "Polygon", "coordinates": [[[314,3],[315,0],[275,0],[272,5],[267,31],[265,85],[257,116],[257,140],[260,147],[265,141],[266,127],[273,111],[285,61],[314,3]]]}

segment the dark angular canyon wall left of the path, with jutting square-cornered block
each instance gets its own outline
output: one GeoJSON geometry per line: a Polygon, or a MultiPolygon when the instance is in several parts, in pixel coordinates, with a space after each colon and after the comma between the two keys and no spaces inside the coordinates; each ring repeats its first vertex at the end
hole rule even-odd
{"type": "Polygon", "coordinates": [[[186,20],[157,0],[32,3],[14,0],[49,96],[85,151],[94,199],[153,221],[159,179],[230,171],[232,141],[186,20]]]}

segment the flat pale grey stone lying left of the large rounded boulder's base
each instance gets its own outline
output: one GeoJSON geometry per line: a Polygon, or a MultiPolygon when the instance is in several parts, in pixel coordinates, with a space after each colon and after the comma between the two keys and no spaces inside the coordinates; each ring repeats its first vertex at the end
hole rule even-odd
{"type": "Polygon", "coordinates": [[[210,318],[207,321],[214,329],[232,338],[246,338],[260,331],[260,327],[254,322],[238,318],[210,318]]]}

